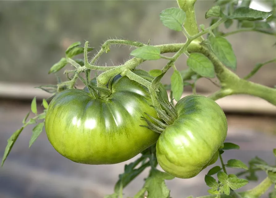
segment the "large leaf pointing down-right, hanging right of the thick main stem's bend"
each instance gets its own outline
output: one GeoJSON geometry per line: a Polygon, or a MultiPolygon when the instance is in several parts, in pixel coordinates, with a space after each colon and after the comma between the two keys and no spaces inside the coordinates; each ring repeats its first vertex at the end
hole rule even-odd
{"type": "Polygon", "coordinates": [[[214,54],[226,66],[236,70],[237,60],[231,44],[224,37],[209,36],[209,41],[214,54]]]}

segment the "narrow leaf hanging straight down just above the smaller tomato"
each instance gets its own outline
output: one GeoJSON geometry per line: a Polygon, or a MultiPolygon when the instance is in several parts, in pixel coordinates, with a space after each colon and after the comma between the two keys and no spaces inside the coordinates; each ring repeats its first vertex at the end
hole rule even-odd
{"type": "Polygon", "coordinates": [[[171,76],[172,95],[176,101],[179,101],[183,93],[183,80],[179,71],[174,70],[171,76]]]}

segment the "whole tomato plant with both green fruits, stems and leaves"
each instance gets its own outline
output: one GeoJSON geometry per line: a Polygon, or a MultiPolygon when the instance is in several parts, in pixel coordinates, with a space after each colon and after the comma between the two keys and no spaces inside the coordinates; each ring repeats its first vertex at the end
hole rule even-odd
{"type": "MultiPolygon", "coordinates": [[[[250,0],[240,3],[236,0],[216,0],[215,5],[206,11],[205,18],[212,20],[210,26],[205,27],[197,24],[196,0],[177,0],[179,7],[165,9],[159,16],[164,26],[183,33],[185,43],[151,45],[150,41],[110,39],[104,42],[91,61],[88,61],[87,53],[93,48],[88,46],[88,41],[84,46],[80,42],[71,44],[65,56],[49,70],[49,74],[58,73],[69,64],[73,70],[64,71],[68,80],[62,82],[58,78],[56,85],[39,87],[52,96],[43,100],[45,110],[40,114],[36,109],[36,98],[32,100],[34,116],[28,119],[28,113],[23,119],[23,126],[8,139],[2,165],[27,125],[36,124],[29,146],[45,125],[50,143],[72,161],[113,164],[140,153],[137,160],[125,165],[114,193],[106,198],[122,198],[124,187],[147,167],[150,167],[149,175],[134,198],[170,198],[165,180],[194,177],[218,159],[221,166],[212,167],[205,175],[210,195],[204,198],[261,197],[276,184],[276,166],[267,164],[259,157],[249,161],[248,166],[237,159],[230,159],[227,163],[223,161],[225,151],[240,147],[224,142],[227,120],[215,101],[233,94],[247,94],[276,105],[275,88],[249,80],[261,67],[276,62],[275,57],[258,63],[248,75],[240,77],[235,74],[235,52],[226,38],[248,31],[275,36],[276,1],[268,2],[272,11],[265,12],[250,8],[250,0]],[[234,23],[236,30],[231,31],[229,28],[234,23]],[[222,30],[222,24],[226,30],[222,30]],[[117,66],[96,65],[100,56],[116,44],[136,48],[130,52],[132,58],[117,66]],[[173,55],[162,55],[165,53],[173,55]],[[83,59],[75,58],[78,54],[83,54],[83,59]],[[187,69],[182,68],[183,62],[176,63],[181,56],[187,57],[187,69]],[[158,59],[167,60],[162,70],[137,70],[142,62],[158,59]],[[173,73],[170,85],[165,86],[167,93],[161,80],[170,69],[173,73]],[[97,73],[91,80],[92,70],[97,73]],[[85,79],[82,73],[85,73],[85,79]],[[219,90],[208,97],[197,95],[196,83],[201,78],[209,79],[219,90]],[[219,84],[213,81],[214,78],[219,84]],[[78,79],[86,88],[81,90],[76,87],[78,79]],[[181,99],[186,86],[192,87],[193,94],[181,99]],[[164,171],[158,169],[158,164],[164,171]],[[227,168],[243,171],[228,174],[227,168]],[[236,192],[249,181],[256,181],[256,171],[260,170],[267,174],[261,183],[251,190],[236,192]],[[246,179],[240,178],[243,175],[246,179]]],[[[244,46],[244,50],[247,47],[244,46]]],[[[270,47],[275,47],[275,44],[270,47]]],[[[276,149],[273,153],[276,157],[276,149]]],[[[275,189],[269,197],[276,197],[275,189]]]]}

